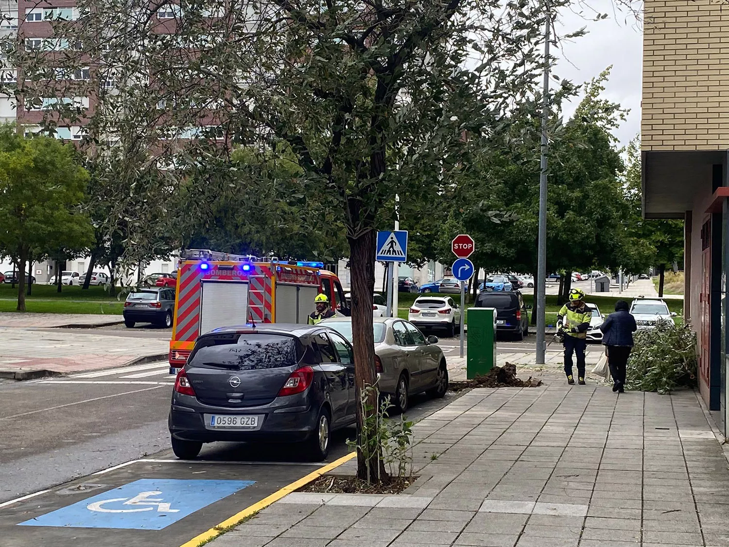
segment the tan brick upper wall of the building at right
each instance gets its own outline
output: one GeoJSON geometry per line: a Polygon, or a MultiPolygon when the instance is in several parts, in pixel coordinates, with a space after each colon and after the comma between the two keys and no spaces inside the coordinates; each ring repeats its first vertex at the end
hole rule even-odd
{"type": "Polygon", "coordinates": [[[645,0],[643,150],[729,148],[729,4],[645,0]]]}

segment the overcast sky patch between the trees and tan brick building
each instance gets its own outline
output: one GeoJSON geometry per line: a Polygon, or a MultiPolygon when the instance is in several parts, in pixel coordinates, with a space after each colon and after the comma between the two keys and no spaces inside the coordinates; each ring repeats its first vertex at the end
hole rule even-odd
{"type": "MultiPolygon", "coordinates": [[[[615,131],[615,136],[625,145],[640,131],[642,31],[634,18],[626,21],[625,13],[615,15],[611,2],[599,0],[592,5],[599,5],[599,9],[609,13],[609,18],[592,21],[573,12],[560,14],[557,23],[560,34],[583,26],[587,28],[588,34],[565,42],[562,46],[564,51],[556,52],[560,61],[555,74],[580,83],[596,77],[612,65],[604,94],[609,100],[630,109],[628,119],[615,131]]],[[[575,106],[577,104],[572,105],[565,114],[571,115],[575,106]]]]}

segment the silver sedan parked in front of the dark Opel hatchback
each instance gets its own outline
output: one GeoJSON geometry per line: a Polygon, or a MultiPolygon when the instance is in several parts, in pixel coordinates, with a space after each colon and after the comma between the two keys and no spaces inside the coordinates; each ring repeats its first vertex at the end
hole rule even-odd
{"type": "MultiPolygon", "coordinates": [[[[448,368],[438,338],[426,338],[404,319],[375,317],[375,366],[380,392],[391,395],[395,408],[405,411],[410,395],[427,392],[443,397],[448,391],[448,368]]],[[[350,317],[332,317],[321,324],[352,341],[350,317]]]]}

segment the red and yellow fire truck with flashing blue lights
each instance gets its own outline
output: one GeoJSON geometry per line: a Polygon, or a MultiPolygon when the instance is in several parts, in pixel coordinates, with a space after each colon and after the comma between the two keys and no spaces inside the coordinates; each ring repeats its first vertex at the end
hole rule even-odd
{"type": "Polygon", "coordinates": [[[349,315],[338,277],[324,264],[230,255],[207,249],[182,252],[177,268],[170,373],[187,361],[199,335],[250,323],[306,323],[323,292],[332,309],[349,315]]]}

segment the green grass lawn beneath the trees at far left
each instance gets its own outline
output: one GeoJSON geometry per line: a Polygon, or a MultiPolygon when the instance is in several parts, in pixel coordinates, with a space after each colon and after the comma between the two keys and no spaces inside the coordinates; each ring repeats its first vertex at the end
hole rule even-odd
{"type": "MultiPolygon", "coordinates": [[[[124,299],[117,300],[104,287],[64,286],[59,293],[55,285],[33,285],[32,292],[26,296],[26,310],[31,313],[121,315],[124,309],[124,299]]],[[[0,311],[15,311],[16,307],[17,286],[0,284],[0,311]]]]}

